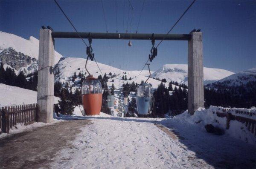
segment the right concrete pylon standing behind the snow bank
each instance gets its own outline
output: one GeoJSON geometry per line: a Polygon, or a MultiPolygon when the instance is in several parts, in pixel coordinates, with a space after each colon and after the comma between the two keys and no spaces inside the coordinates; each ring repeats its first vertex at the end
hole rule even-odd
{"type": "Polygon", "coordinates": [[[204,107],[204,66],[202,32],[192,32],[188,41],[188,111],[193,115],[204,107]]]}

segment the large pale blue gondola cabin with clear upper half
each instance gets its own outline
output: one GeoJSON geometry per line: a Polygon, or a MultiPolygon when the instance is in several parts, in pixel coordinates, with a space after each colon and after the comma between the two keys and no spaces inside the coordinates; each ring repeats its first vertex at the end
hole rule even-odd
{"type": "Polygon", "coordinates": [[[151,114],[154,102],[153,89],[151,84],[142,83],[137,89],[137,111],[139,115],[151,114]]]}

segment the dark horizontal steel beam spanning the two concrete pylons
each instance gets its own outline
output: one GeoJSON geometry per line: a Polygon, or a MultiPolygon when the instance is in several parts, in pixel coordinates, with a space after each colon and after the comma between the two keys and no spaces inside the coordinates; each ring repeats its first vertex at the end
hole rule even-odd
{"type": "MultiPolygon", "coordinates": [[[[78,32],[82,38],[152,40],[153,34],[78,32]]],[[[76,32],[52,32],[53,38],[80,38],[76,32]]],[[[154,34],[155,40],[190,40],[191,34],[154,34]]]]}

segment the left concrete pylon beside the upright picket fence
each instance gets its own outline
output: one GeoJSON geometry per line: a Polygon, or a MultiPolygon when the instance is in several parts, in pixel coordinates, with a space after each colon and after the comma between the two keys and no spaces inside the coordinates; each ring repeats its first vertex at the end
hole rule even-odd
{"type": "Polygon", "coordinates": [[[40,29],[38,55],[38,121],[51,123],[53,121],[54,101],[54,39],[52,31],[40,29]]]}

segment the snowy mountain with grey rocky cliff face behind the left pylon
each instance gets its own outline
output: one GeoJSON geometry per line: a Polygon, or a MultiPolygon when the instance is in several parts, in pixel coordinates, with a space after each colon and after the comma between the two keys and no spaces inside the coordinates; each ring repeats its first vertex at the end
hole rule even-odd
{"type": "MultiPolygon", "coordinates": [[[[39,40],[29,37],[28,40],[15,34],[0,31],[0,62],[6,67],[12,67],[15,72],[26,70],[25,73],[38,69],[39,40]]],[[[55,51],[55,64],[61,54],[55,51]]]]}

